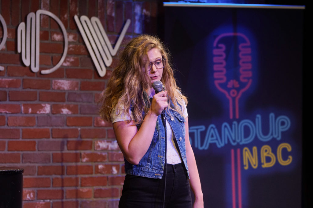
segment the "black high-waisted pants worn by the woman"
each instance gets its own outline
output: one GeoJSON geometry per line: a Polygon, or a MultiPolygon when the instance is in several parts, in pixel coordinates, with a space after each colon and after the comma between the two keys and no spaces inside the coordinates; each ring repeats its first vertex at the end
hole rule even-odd
{"type": "MultiPolygon", "coordinates": [[[[162,208],[165,174],[162,179],[126,175],[119,208],[162,208]]],[[[182,163],[167,164],[165,207],[192,208],[190,185],[182,163]]]]}

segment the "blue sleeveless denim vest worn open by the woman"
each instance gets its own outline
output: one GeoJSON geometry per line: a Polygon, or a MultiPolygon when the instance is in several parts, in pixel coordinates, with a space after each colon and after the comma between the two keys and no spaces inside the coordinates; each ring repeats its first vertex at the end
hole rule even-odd
{"type": "MultiPolygon", "coordinates": [[[[166,113],[166,119],[172,127],[175,135],[174,140],[176,140],[175,143],[178,144],[177,151],[181,156],[182,163],[185,165],[189,177],[185,146],[185,118],[176,111],[170,110],[170,113],[172,117],[166,113]]],[[[137,128],[140,128],[140,125],[137,126],[137,128]]],[[[138,165],[133,165],[124,158],[125,173],[135,176],[161,179],[165,163],[165,143],[165,128],[162,124],[161,115],[159,115],[148,151],[141,158],[138,165]]]]}

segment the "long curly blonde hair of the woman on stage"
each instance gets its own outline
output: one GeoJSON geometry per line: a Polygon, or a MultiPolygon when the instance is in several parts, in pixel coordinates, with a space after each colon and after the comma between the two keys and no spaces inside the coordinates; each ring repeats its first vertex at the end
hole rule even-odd
{"type": "Polygon", "coordinates": [[[151,80],[143,68],[148,61],[148,51],[153,48],[157,48],[162,58],[167,59],[161,81],[172,104],[166,112],[169,114],[168,109],[172,109],[182,115],[181,106],[187,104],[187,98],[181,94],[176,85],[166,47],[155,36],[140,35],[133,38],[120,53],[119,64],[112,71],[107,87],[100,95],[99,113],[102,119],[112,121],[113,111],[118,114],[125,111],[128,122],[131,122],[127,109],[132,109],[134,124],[142,123],[144,115],[151,106],[146,94],[146,91],[151,89],[151,80]]]}

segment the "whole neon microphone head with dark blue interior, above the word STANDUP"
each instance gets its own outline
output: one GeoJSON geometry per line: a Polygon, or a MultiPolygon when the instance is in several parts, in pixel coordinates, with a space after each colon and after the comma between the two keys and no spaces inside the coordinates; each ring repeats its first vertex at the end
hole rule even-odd
{"type": "Polygon", "coordinates": [[[229,101],[229,118],[238,119],[239,99],[252,83],[250,41],[242,33],[223,33],[214,40],[213,55],[214,84],[229,101]]]}

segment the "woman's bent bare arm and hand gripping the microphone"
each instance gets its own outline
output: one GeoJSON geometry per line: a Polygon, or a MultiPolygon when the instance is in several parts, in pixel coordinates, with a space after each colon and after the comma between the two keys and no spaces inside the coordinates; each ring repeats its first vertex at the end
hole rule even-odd
{"type": "Polygon", "coordinates": [[[162,91],[153,96],[151,108],[139,130],[133,121],[113,123],[116,141],[124,157],[131,164],[137,165],[146,154],[153,138],[157,117],[168,106],[166,95],[167,91],[162,91]]]}

